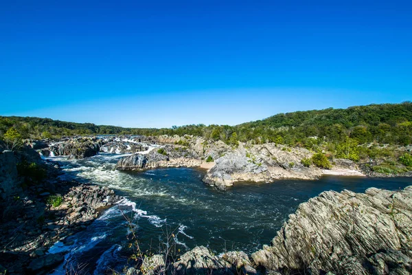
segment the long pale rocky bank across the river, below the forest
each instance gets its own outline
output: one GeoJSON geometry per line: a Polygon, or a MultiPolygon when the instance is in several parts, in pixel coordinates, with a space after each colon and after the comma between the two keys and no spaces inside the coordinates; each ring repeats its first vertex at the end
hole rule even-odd
{"type": "MultiPolygon", "coordinates": [[[[325,159],[327,165],[314,164],[314,153],[306,148],[274,143],[238,142],[230,146],[221,141],[185,135],[152,137],[160,148],[149,153],[135,153],[120,159],[117,170],[147,170],[167,167],[207,168],[206,184],[225,189],[238,181],[273,182],[277,179],[319,179],[323,175],[385,177],[375,173],[371,164],[356,164],[350,159],[325,159]],[[183,145],[182,145],[183,144],[183,145]]],[[[408,148],[402,148],[408,151],[408,148]]],[[[323,156],[323,155],[321,155],[323,156]]],[[[375,163],[375,165],[377,165],[375,163]]],[[[402,173],[411,176],[412,171],[402,173]]]]}

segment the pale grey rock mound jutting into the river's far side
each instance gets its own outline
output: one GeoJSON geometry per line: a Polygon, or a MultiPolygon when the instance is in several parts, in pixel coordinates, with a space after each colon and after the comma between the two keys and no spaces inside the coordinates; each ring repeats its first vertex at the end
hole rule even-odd
{"type": "Polygon", "coordinates": [[[271,182],[276,179],[318,179],[321,169],[308,168],[301,159],[312,156],[304,148],[287,148],[276,144],[257,144],[229,151],[216,159],[216,165],[203,178],[207,184],[225,189],[237,181],[271,182]]]}

